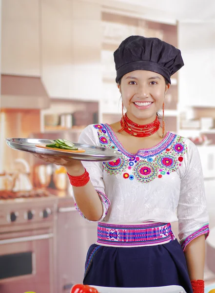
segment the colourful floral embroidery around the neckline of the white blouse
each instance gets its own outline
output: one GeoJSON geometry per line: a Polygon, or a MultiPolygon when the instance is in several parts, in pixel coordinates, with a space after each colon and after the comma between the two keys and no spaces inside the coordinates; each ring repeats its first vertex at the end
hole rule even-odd
{"type": "Polygon", "coordinates": [[[168,176],[176,171],[187,152],[181,136],[168,133],[160,144],[148,149],[139,149],[137,154],[126,151],[117,140],[109,125],[94,125],[98,129],[100,146],[117,149],[122,155],[112,162],[104,162],[103,167],[109,174],[122,174],[124,179],[148,183],[156,178],[168,176]]]}

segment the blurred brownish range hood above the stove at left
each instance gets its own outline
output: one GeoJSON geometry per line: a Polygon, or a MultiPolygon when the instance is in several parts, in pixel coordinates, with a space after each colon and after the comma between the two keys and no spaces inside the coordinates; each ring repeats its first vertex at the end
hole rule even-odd
{"type": "Polygon", "coordinates": [[[1,74],[2,109],[46,109],[49,104],[40,77],[1,74]]]}

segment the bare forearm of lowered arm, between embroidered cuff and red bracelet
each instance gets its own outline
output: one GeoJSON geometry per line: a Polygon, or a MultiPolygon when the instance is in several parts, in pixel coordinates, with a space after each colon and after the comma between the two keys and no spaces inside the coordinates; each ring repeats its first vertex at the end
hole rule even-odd
{"type": "Polygon", "coordinates": [[[184,254],[190,279],[203,280],[205,264],[205,235],[200,235],[192,240],[186,246],[184,254]]]}

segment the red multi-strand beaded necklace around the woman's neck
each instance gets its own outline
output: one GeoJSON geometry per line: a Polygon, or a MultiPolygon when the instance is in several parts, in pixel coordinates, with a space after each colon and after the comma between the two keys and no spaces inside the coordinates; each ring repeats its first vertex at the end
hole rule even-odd
{"type": "Polygon", "coordinates": [[[160,127],[160,122],[158,120],[158,117],[156,117],[156,120],[152,123],[146,124],[146,125],[139,125],[131,121],[126,113],[121,118],[120,121],[121,129],[118,132],[125,131],[129,133],[130,135],[136,136],[136,137],[147,137],[157,132],[157,130],[160,127]]]}

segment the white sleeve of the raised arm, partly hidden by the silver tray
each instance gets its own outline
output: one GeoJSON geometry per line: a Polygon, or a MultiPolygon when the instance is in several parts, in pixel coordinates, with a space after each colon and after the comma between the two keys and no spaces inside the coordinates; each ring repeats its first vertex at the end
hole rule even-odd
{"type": "MultiPolygon", "coordinates": [[[[78,143],[85,144],[85,145],[91,145],[91,146],[100,146],[97,131],[98,130],[93,125],[87,126],[80,134],[78,143]]],[[[98,220],[98,221],[101,221],[106,216],[106,214],[108,212],[108,208],[110,206],[110,201],[107,198],[107,196],[105,195],[102,162],[83,161],[82,164],[86,168],[87,172],[89,173],[90,180],[91,180],[94,188],[96,189],[98,196],[101,200],[103,214],[102,214],[102,217],[98,220]]],[[[75,204],[75,206],[76,206],[76,209],[78,210],[78,212],[80,213],[80,215],[83,218],[85,218],[83,213],[78,208],[77,204],[75,204]]]]}

